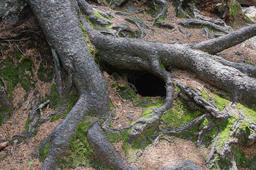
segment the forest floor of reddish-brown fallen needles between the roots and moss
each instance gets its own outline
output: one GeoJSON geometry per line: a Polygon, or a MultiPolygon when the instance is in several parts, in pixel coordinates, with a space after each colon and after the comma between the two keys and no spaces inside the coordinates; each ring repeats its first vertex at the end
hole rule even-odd
{"type": "MultiPolygon", "coordinates": [[[[138,4],[126,4],[125,6],[122,6],[122,10],[126,11],[126,8],[128,8],[130,5],[135,6],[140,12],[131,14],[137,15],[148,26],[152,26],[152,16],[141,12],[145,6],[140,3],[143,3],[143,1],[138,2],[138,4]]],[[[113,11],[111,8],[100,6],[96,6],[96,8],[97,10],[111,11],[112,15],[115,16],[115,18],[113,18],[111,21],[112,23],[123,22],[123,17],[115,15],[115,11],[113,11]]],[[[184,30],[191,34],[184,35],[181,33],[178,29],[177,23],[179,21],[185,21],[185,19],[177,18],[176,13],[176,8],[169,5],[168,14],[165,21],[172,23],[175,26],[174,30],[154,27],[155,33],[152,35],[150,30],[146,30],[147,35],[143,38],[143,40],[162,43],[177,41],[179,43],[188,44],[195,44],[207,40],[205,34],[199,34],[202,30],[201,28],[184,28],[184,30]]],[[[207,17],[217,18],[217,16],[212,13],[208,13],[207,11],[202,11],[201,14],[207,17]]],[[[133,24],[130,24],[130,26],[135,28],[133,24]]],[[[245,26],[247,26],[246,23],[236,21],[236,23],[233,25],[233,30],[238,30],[239,28],[243,28],[245,26]]],[[[4,29],[3,27],[4,25],[0,26],[1,29],[4,29]]],[[[210,31],[210,33],[213,36],[213,31],[210,31]]],[[[42,38],[38,38],[37,40],[41,42],[34,42],[33,40],[10,40],[8,42],[1,43],[1,47],[3,47],[0,54],[1,67],[6,64],[4,61],[11,61],[14,67],[20,66],[23,59],[29,59],[33,62],[32,69],[22,67],[21,72],[21,74],[24,74],[27,77],[28,81],[33,82],[33,88],[24,89],[24,86],[22,86],[19,82],[17,82],[15,86],[13,85],[11,87],[12,92],[9,94],[9,96],[11,96],[11,102],[13,103],[14,109],[13,113],[11,113],[11,118],[9,118],[9,120],[4,120],[4,123],[1,125],[0,141],[4,141],[5,139],[11,140],[14,135],[21,134],[24,132],[24,130],[26,130],[26,122],[30,112],[30,105],[33,98],[35,98],[35,94],[40,96],[40,100],[42,102],[49,98],[48,91],[52,89],[51,84],[53,77],[52,75],[45,74],[44,76],[48,78],[48,80],[45,81],[45,79],[41,79],[38,76],[38,73],[42,72],[43,69],[54,69],[54,64],[52,60],[50,60],[50,49],[47,47],[47,45],[45,45],[46,42],[42,42],[45,40],[42,38]],[[31,45],[31,43],[34,44],[31,45]],[[43,53],[46,55],[43,56],[43,53]],[[48,60],[45,60],[45,58],[48,60]]],[[[220,52],[218,55],[233,62],[247,62],[250,64],[256,64],[256,38],[252,38],[239,45],[230,47],[229,49],[220,52]],[[240,52],[242,52],[244,56],[239,55],[240,52]]],[[[129,86],[129,84],[125,80],[116,78],[107,72],[103,72],[103,74],[108,83],[111,103],[116,108],[116,115],[111,123],[114,128],[121,128],[129,125],[132,120],[140,118],[141,114],[145,112],[148,107],[150,107],[135,106],[136,102],[145,99],[150,102],[152,106],[154,106],[161,104],[161,101],[163,100],[163,98],[160,98],[159,96],[150,98],[143,97],[140,96],[140,94],[135,94],[134,91],[132,92],[135,97],[132,99],[126,99],[126,97],[122,94],[123,91],[121,90],[121,87],[129,86]],[[118,84],[118,86],[116,86],[116,84],[118,84]]],[[[172,74],[184,84],[188,84],[193,88],[199,89],[199,91],[204,90],[207,94],[211,94],[212,92],[226,94],[223,91],[215,89],[206,82],[197,79],[196,75],[191,72],[173,69],[172,74]]],[[[11,83],[11,80],[6,80],[6,84],[11,83]]],[[[175,109],[175,107],[179,107],[179,105],[174,105],[174,108],[172,109],[175,109]]],[[[48,115],[52,111],[55,111],[55,109],[55,106],[52,104],[48,108],[43,109],[43,115],[48,115]]],[[[179,118],[182,118],[182,115],[184,115],[185,112],[186,111],[184,110],[179,111],[179,118]]],[[[8,147],[0,152],[0,169],[40,169],[41,162],[39,159],[31,159],[30,154],[35,151],[36,147],[40,144],[40,141],[47,137],[53,128],[60,123],[60,121],[62,121],[62,118],[43,123],[38,128],[36,135],[30,137],[29,139],[12,140],[9,142],[8,147]]],[[[209,154],[209,152],[211,152],[211,147],[196,147],[196,142],[189,140],[188,137],[171,137],[170,139],[171,142],[165,139],[160,140],[159,144],[155,147],[153,144],[154,140],[148,137],[147,141],[150,140],[151,144],[147,144],[145,147],[143,147],[143,153],[140,157],[136,156],[139,149],[134,149],[133,152],[126,153],[125,149],[123,148],[123,141],[113,142],[113,145],[116,147],[116,150],[119,154],[121,154],[122,157],[124,157],[130,163],[138,164],[140,169],[160,169],[165,164],[182,161],[184,159],[191,159],[193,162],[199,164],[199,166],[207,169],[205,166],[206,156],[209,154]]],[[[243,148],[243,152],[245,157],[255,157],[256,145],[252,145],[250,148],[243,148]]],[[[63,168],[68,169],[65,167],[63,168]]],[[[81,164],[78,164],[78,167],[75,169],[94,168],[84,168],[81,166],[81,164]]]]}

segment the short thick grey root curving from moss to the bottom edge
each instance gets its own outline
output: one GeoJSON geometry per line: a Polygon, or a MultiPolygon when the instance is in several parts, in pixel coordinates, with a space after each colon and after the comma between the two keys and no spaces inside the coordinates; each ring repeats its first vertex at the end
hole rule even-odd
{"type": "Polygon", "coordinates": [[[137,169],[136,166],[128,165],[116,152],[115,147],[102,132],[99,123],[93,123],[87,132],[87,140],[96,156],[108,166],[114,169],[137,169]]]}

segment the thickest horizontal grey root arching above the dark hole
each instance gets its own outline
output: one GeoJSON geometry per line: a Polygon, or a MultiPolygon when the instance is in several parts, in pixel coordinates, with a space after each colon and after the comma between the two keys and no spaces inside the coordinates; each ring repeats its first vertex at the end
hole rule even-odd
{"type": "Polygon", "coordinates": [[[150,70],[148,68],[150,63],[147,60],[152,60],[152,53],[155,53],[157,54],[156,58],[158,57],[165,68],[187,69],[195,72],[201,79],[210,84],[230,92],[230,94],[247,98],[248,103],[256,100],[254,95],[256,79],[247,77],[238,69],[216,62],[211,55],[192,50],[189,45],[166,45],[129,38],[107,38],[91,28],[88,23],[82,24],[86,28],[91,42],[99,50],[101,60],[112,67],[150,70]]]}

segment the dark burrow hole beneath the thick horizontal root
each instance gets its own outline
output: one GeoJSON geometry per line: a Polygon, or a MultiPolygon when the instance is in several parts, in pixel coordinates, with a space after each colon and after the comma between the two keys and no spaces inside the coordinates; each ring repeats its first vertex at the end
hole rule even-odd
{"type": "Polygon", "coordinates": [[[128,77],[128,81],[135,86],[141,96],[165,96],[165,81],[149,72],[135,73],[128,77]]]}

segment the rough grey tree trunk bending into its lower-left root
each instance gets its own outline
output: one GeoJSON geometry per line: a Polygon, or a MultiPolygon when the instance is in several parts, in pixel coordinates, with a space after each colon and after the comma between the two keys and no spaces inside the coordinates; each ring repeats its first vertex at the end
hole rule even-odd
{"type": "Polygon", "coordinates": [[[108,112],[108,86],[87,49],[76,2],[49,0],[29,1],[29,4],[50,46],[56,50],[67,72],[72,74],[80,94],[66,118],[47,137],[50,148],[41,169],[57,169],[57,160],[65,153],[84,117],[88,113],[105,115],[108,112]]]}

